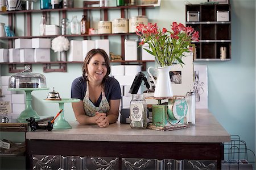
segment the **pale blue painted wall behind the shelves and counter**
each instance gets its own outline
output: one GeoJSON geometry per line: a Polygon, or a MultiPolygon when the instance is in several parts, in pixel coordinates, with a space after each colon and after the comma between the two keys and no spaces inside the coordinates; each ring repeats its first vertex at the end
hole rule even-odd
{"type": "MultiPolygon", "coordinates": [[[[185,23],[185,1],[162,0],[161,6],[147,10],[150,22],[168,27],[173,21],[185,23]]],[[[205,1],[190,1],[191,3],[205,1]]],[[[196,62],[208,65],[209,110],[230,133],[238,134],[247,147],[255,152],[255,0],[230,0],[232,5],[232,60],[225,62],[196,62]]],[[[81,5],[81,0],[76,1],[81,5]]],[[[79,13],[78,18],[81,19],[79,13]]],[[[40,16],[40,15],[39,15],[40,16]]],[[[119,14],[111,16],[118,18],[119,14]]],[[[97,19],[97,16],[96,16],[97,19]]],[[[0,16],[1,22],[6,20],[0,16]]],[[[54,18],[52,19],[52,22],[54,18]]],[[[23,21],[22,21],[23,22],[23,21]]],[[[37,27],[39,21],[33,22],[37,27]]],[[[38,35],[36,29],[34,35],[38,35]]],[[[119,39],[112,38],[110,49],[119,53],[119,39]]],[[[32,65],[34,72],[43,73],[42,65],[32,65]]],[[[6,65],[1,75],[7,75],[6,65]]],[[[47,86],[55,87],[63,98],[70,97],[71,82],[81,75],[80,64],[68,64],[67,73],[43,73],[47,86]]],[[[42,102],[48,91],[32,92],[33,107],[39,115],[56,115],[57,104],[42,102]]],[[[74,121],[70,103],[66,103],[65,118],[74,121]]]]}

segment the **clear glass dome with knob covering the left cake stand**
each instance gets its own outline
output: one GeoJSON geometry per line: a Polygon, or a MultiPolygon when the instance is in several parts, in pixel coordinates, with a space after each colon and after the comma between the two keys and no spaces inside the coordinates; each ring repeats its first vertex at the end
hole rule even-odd
{"type": "Polygon", "coordinates": [[[30,70],[30,65],[24,67],[21,73],[13,74],[9,78],[9,88],[46,88],[46,77],[30,70]]]}

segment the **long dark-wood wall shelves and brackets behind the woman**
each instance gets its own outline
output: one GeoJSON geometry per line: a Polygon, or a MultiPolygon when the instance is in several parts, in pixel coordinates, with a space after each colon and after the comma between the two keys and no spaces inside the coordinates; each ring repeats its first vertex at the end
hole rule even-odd
{"type": "MultiPolygon", "coordinates": [[[[31,35],[31,14],[32,13],[42,13],[44,15],[49,15],[51,12],[58,12],[59,16],[62,18],[67,18],[68,11],[83,11],[84,14],[88,13],[90,10],[98,10],[100,13],[103,14],[103,18],[101,20],[108,20],[108,13],[109,10],[120,10],[121,16],[120,18],[126,18],[125,12],[129,9],[138,9],[138,13],[141,12],[141,15],[146,15],[147,8],[154,8],[154,6],[113,6],[113,7],[89,7],[93,3],[96,2],[84,2],[84,7],[73,8],[73,9],[46,9],[46,10],[21,10],[21,11],[6,11],[0,12],[0,15],[8,15],[9,26],[11,30],[14,30],[15,27],[13,24],[13,20],[15,18],[15,14],[24,14],[24,18],[26,18],[26,30],[24,28],[24,32],[26,32],[26,36],[14,36],[14,37],[0,37],[0,39],[6,39],[9,41],[9,48],[14,46],[14,40],[17,38],[55,38],[59,35],[51,35],[51,36],[32,36],[31,35]]],[[[98,3],[98,2],[97,2],[98,3]]],[[[142,71],[146,71],[146,62],[148,61],[124,61],[125,49],[124,49],[124,42],[125,39],[129,35],[135,35],[134,33],[127,33],[127,34],[97,34],[97,35],[64,35],[68,38],[75,38],[75,37],[83,37],[84,39],[89,39],[93,36],[99,36],[101,39],[108,39],[109,36],[121,36],[121,56],[122,61],[110,61],[114,63],[121,63],[121,64],[129,64],[131,62],[136,64],[142,64],[142,71]]],[[[42,62],[42,63],[26,63],[26,64],[43,64],[43,72],[67,72],[67,64],[68,63],[81,63],[81,62],[63,62],[63,61],[51,61],[51,62],[42,62]],[[57,67],[53,69],[53,67],[57,67]]],[[[18,69],[19,65],[24,65],[25,63],[1,63],[1,64],[8,64],[9,65],[9,72],[15,73],[22,71],[18,69]]]]}

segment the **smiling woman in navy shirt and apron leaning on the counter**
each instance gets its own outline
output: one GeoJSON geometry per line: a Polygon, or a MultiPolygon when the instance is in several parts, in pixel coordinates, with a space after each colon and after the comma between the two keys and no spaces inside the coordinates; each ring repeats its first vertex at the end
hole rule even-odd
{"type": "Polygon", "coordinates": [[[71,98],[77,121],[108,127],[118,118],[121,89],[119,82],[109,77],[109,58],[103,49],[92,49],[82,64],[82,76],[72,83],[71,98]]]}

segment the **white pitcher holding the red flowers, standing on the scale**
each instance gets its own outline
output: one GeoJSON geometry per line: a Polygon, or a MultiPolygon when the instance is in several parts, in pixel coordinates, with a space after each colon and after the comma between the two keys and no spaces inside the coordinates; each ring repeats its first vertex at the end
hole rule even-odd
{"type": "Polygon", "coordinates": [[[150,74],[150,77],[152,78],[155,84],[154,97],[174,96],[174,94],[172,93],[170,71],[171,71],[171,66],[159,67],[159,68],[149,67],[147,69],[148,74],[150,74]],[[150,73],[151,68],[158,72],[157,80],[155,80],[155,78],[150,73]]]}

